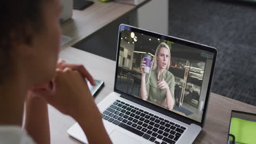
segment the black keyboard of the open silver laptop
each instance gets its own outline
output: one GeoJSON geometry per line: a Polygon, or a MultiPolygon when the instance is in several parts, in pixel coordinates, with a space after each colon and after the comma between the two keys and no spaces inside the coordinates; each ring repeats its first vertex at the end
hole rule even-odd
{"type": "Polygon", "coordinates": [[[158,144],[174,144],[186,130],[181,125],[120,100],[111,104],[102,113],[102,118],[158,144]]]}

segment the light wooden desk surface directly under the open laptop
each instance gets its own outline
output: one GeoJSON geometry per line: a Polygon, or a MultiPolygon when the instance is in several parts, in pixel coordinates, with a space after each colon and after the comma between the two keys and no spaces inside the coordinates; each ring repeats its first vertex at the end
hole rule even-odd
{"type": "MultiPolygon", "coordinates": [[[[105,82],[105,86],[101,92],[96,95],[96,103],[99,103],[107,94],[113,91],[115,76],[114,61],[72,47],[63,49],[60,53],[60,58],[65,59],[67,62],[84,64],[95,79],[105,82]]],[[[194,143],[225,143],[231,110],[255,113],[256,106],[211,93],[205,127],[199,136],[197,136],[194,143]]],[[[51,143],[80,143],[69,137],[66,132],[75,123],[74,119],[63,115],[51,106],[49,106],[49,117],[51,143]]]]}

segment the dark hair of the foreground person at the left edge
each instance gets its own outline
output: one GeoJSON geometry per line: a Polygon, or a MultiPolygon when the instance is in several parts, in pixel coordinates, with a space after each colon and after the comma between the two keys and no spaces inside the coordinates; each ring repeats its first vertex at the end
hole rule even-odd
{"type": "Polygon", "coordinates": [[[11,50],[16,41],[30,44],[35,33],[42,30],[45,0],[5,0],[1,2],[0,84],[13,70],[11,50]]]}

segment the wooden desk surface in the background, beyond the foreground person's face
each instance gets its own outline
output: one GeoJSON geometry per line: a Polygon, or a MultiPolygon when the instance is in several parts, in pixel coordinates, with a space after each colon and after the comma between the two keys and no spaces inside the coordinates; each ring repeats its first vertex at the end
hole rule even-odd
{"type": "Polygon", "coordinates": [[[84,10],[73,10],[71,20],[62,23],[62,33],[73,38],[63,47],[74,45],[97,32],[110,22],[118,19],[129,11],[143,4],[135,6],[116,2],[100,2],[93,0],[94,4],[84,10]]]}

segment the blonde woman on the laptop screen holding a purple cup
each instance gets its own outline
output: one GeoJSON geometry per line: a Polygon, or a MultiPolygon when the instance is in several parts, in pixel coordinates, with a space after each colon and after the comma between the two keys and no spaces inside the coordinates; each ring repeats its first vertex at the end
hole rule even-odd
{"type": "Polygon", "coordinates": [[[167,44],[161,43],[155,51],[149,74],[144,72],[146,61],[141,63],[141,97],[153,103],[173,109],[174,76],[168,71],[171,62],[171,52],[167,44]]]}

